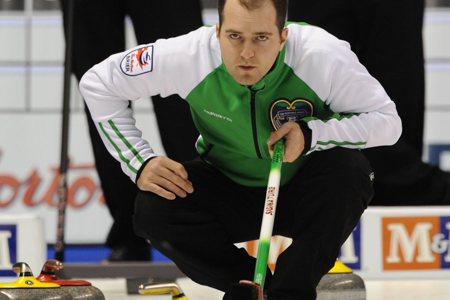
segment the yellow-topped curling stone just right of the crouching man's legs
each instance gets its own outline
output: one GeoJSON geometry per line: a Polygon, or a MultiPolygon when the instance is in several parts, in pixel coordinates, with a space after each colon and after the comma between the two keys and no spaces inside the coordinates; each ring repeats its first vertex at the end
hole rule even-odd
{"type": "Polygon", "coordinates": [[[336,260],[317,285],[317,300],[365,300],[365,285],[353,270],[336,260]]]}

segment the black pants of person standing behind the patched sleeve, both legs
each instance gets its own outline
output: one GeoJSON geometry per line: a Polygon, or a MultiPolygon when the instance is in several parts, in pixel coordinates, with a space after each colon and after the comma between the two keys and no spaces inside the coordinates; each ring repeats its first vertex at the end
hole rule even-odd
{"type": "MultiPolygon", "coordinates": [[[[61,0],[64,28],[67,29],[67,4],[61,0]]],[[[199,0],[73,0],[72,71],[79,80],[94,64],[110,54],[125,50],[124,17],[129,15],[139,44],[158,38],[181,35],[202,25],[199,0]]],[[[177,95],[152,102],[162,145],[168,157],[184,161],[196,157],[198,137],[187,102],[177,95]]],[[[120,164],[106,150],[90,113],[85,106],[87,124],[101,187],[114,220],[106,245],[144,245],[133,233],[131,215],[138,188],[120,169],[120,164]]],[[[151,144],[151,141],[150,141],[151,144]]]]}

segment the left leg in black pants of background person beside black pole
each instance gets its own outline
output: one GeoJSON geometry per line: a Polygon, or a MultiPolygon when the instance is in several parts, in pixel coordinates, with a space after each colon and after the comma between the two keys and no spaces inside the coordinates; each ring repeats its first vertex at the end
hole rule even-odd
{"type": "MultiPolygon", "coordinates": [[[[65,16],[67,1],[62,0],[61,4],[65,16]]],[[[124,50],[125,10],[122,1],[110,1],[104,5],[98,0],[76,0],[73,4],[72,71],[79,80],[91,66],[112,53],[124,50]]],[[[65,29],[66,21],[64,17],[65,29]]],[[[147,241],[136,236],[132,227],[131,215],[138,188],[106,150],[86,105],[85,112],[95,167],[113,219],[105,242],[113,250],[108,260],[149,260],[147,241]]]]}

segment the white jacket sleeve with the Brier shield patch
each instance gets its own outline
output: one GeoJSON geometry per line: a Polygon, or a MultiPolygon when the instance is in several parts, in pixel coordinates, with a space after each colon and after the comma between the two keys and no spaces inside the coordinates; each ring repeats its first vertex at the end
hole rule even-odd
{"type": "MultiPolygon", "coordinates": [[[[122,170],[135,181],[142,163],[156,156],[135,126],[129,100],[178,94],[184,98],[207,73],[192,65],[206,61],[215,31],[201,27],[186,35],[159,39],[109,56],[81,78],[79,88],[92,119],[122,170]]],[[[214,36],[215,38],[215,36],[214,36]]]]}

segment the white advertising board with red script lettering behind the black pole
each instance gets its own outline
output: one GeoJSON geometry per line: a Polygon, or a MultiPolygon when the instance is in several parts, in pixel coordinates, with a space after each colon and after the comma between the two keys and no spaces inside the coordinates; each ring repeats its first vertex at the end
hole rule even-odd
{"type": "MultiPolygon", "coordinates": [[[[164,154],[149,101],[136,104],[136,125],[164,154]]],[[[45,223],[45,240],[54,243],[57,228],[61,115],[52,112],[4,113],[0,117],[0,215],[35,214],[45,223]]],[[[193,143],[192,143],[193,146],[193,143]]],[[[112,218],[104,203],[84,111],[69,117],[67,243],[103,243],[112,218]]],[[[118,163],[118,162],[117,162],[118,163]]]]}

